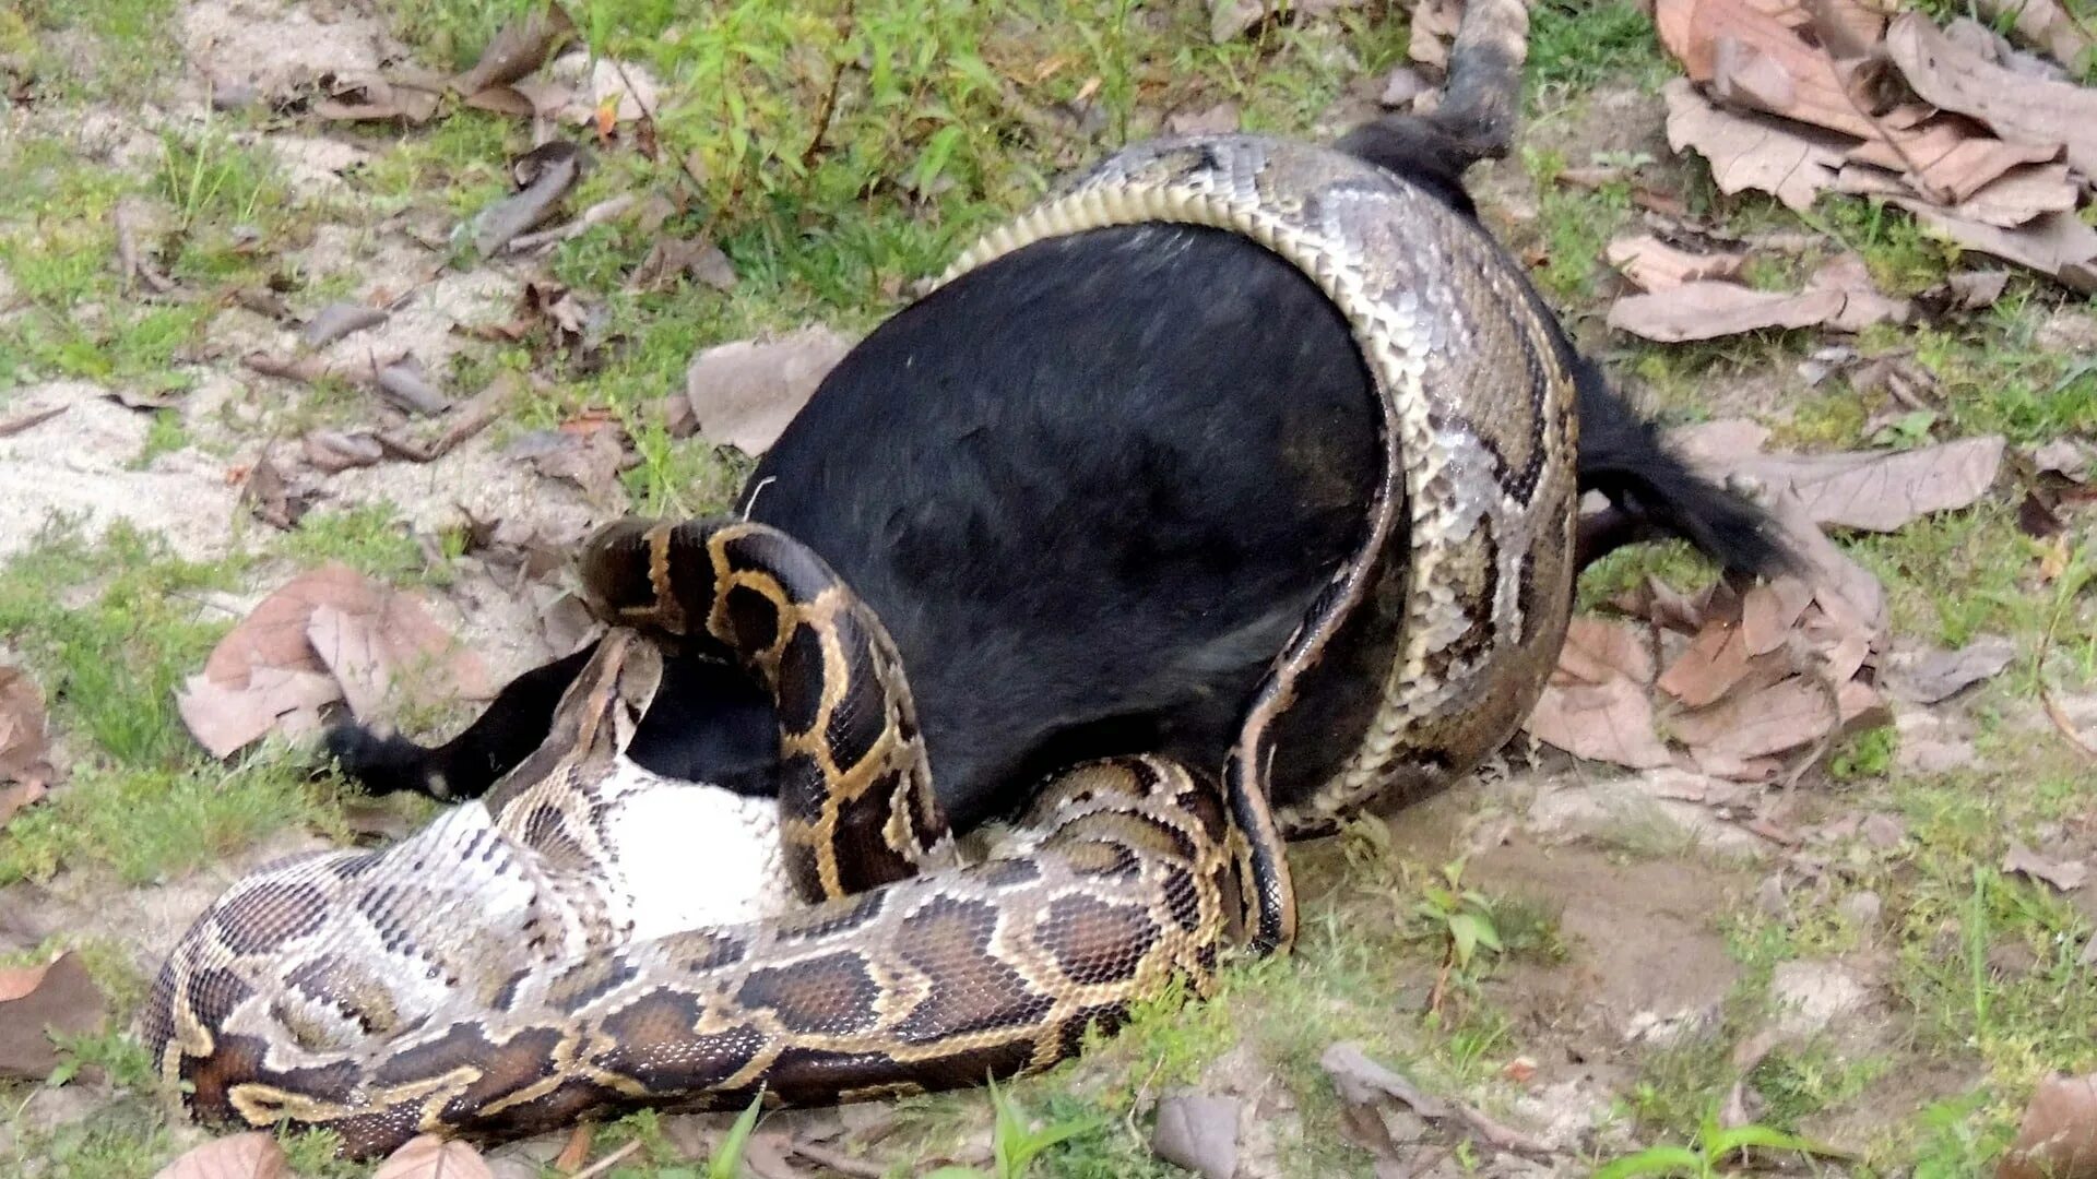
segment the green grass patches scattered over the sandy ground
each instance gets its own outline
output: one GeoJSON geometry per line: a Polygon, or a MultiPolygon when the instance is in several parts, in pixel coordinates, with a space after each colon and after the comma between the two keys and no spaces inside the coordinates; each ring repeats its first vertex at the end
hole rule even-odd
{"type": "MultiPolygon", "coordinates": [[[[470,65],[531,2],[398,0],[386,17],[417,61],[453,69],[470,65]]],[[[124,103],[168,80],[174,55],[161,48],[172,13],[170,0],[27,0],[0,13],[0,55],[31,61],[38,103],[124,103]]],[[[1405,61],[1407,40],[1386,4],[1273,21],[1220,46],[1208,38],[1199,4],[1126,0],[826,0],[793,8],[728,0],[702,21],[669,0],[577,0],[570,13],[593,52],[648,67],[663,82],[663,105],[652,149],[635,143],[633,124],[591,145],[591,170],[568,210],[635,195],[669,212],[658,224],[614,218],[554,250],[552,277],[602,304],[612,344],[589,365],[570,357],[558,380],[522,399],[495,432],[610,411],[635,438],[642,462],[623,478],[635,510],[648,514],[719,508],[749,472],[747,459],[669,438],[656,417],[656,401],[682,388],[694,350],[812,319],[866,329],[908,298],[912,281],[942,271],[967,239],[1040,195],[1051,176],[1151,134],[1168,111],[1233,101],[1248,128],[1302,132],[1348,84],[1405,61]],[[736,287],[627,290],[627,275],[661,237],[717,243],[736,269],[736,287]]],[[[1543,0],[1531,21],[1527,103],[1531,143],[1543,147],[1522,157],[1522,176],[1537,193],[1535,220],[1516,227],[1510,243],[1539,260],[1535,275],[1548,298],[1592,327],[1613,290],[1602,250],[1638,214],[1627,183],[1581,191],[1556,180],[1566,168],[1594,164],[1577,157],[1577,141],[1562,132],[1602,117],[1590,103],[1598,88],[1650,90],[1671,67],[1631,0],[1543,0]]],[[[507,159],[531,147],[520,122],[472,109],[445,109],[419,128],[338,126],[329,134],[354,136],[371,159],[340,191],[315,197],[254,143],[277,124],[170,126],[185,130],[138,141],[126,166],[84,159],[67,136],[34,126],[0,143],[0,189],[8,191],[0,266],[13,292],[13,319],[0,331],[0,386],[61,376],[153,392],[197,384],[212,371],[197,344],[214,340],[229,292],[268,283],[302,310],[346,298],[367,281],[361,252],[384,218],[457,224],[510,189],[507,159]],[[201,298],[153,300],[122,287],[113,266],[117,201],[136,206],[149,227],[149,260],[201,298]],[[302,269],[287,256],[321,224],[340,224],[359,254],[340,271],[302,269]]],[[[1724,233],[1824,233],[1824,256],[1858,252],[1891,294],[1919,294],[1967,264],[1885,206],[1826,199],[1799,218],[1759,197],[1720,195],[1696,162],[1655,164],[1650,172],[1678,183],[1690,210],[1724,233]]],[[[1751,281],[1795,285],[1820,260],[1761,258],[1751,281]]],[[[1856,346],[1864,355],[1902,352],[1933,382],[1933,417],[1908,422],[1894,443],[1998,432],[2030,445],[2097,430],[2097,367],[2042,331],[2053,319],[2087,315],[2019,277],[1988,315],[1875,329],[1856,346]]],[[[1761,380],[1774,409],[1772,449],[1871,445],[1866,424],[1896,407],[1885,392],[1856,390],[1841,376],[1801,390],[1789,373],[1816,344],[1810,334],[1680,348],[1604,340],[1604,352],[1669,424],[1730,413],[1724,390],[1761,380]]],[[[447,376],[474,390],[497,373],[528,371],[543,352],[539,340],[472,342],[447,376]]],[[[361,411],[359,394],[319,388],[264,405],[262,417],[294,436],[361,411]]],[[[254,430],[231,422],[161,411],[134,462],[149,466],[254,430]]],[[[2040,581],[2040,548],[2017,533],[2013,503],[2015,495],[1992,497],[1898,535],[1843,539],[1887,583],[1896,634],[1946,646],[1984,634],[2017,642],[2019,661],[1980,688],[1969,709],[1980,768],[1910,774],[1891,728],[1837,747],[1829,791],[1799,791],[1808,806],[1885,810],[1910,837],[1889,850],[1856,839],[1816,845],[1822,883],[1795,889],[1782,915],[1745,900],[1711,915],[1738,982],[1705,1034],[1665,1049],[1596,1049],[1636,1074],[1619,1108],[1602,1114],[1602,1135],[1615,1145],[1596,1164],[1636,1158],[1642,1148],[1657,1148],[1648,1160],[1684,1166],[1722,1154],[1709,1135],[1699,1139],[1703,1118],[1738,1080],[1730,1053],[1770,1017],[1770,978],[1785,961],[1877,955],[1889,963],[1887,1003],[1898,1015],[1883,1041],[1862,1049],[1837,1036],[1787,1043],[1745,1078],[1757,1118],[1785,1133],[1812,1137],[1831,1118],[1873,1112],[1879,1129],[1862,1143],[1858,1173],[1982,1173],[2007,1143],[2032,1078],[2097,1068],[2087,1036],[2076,1034],[2097,1015],[2087,1001],[2089,967],[2080,965],[2091,921],[2045,885],[1998,869],[2011,839],[2040,841],[2087,812],[2087,766],[2047,730],[2024,724],[2040,682],[2034,657],[2045,629],[2055,629],[2047,682],[2087,690],[2097,678],[2089,558],[2078,552],[2068,573],[2040,581]],[[1864,889],[1883,902],[1871,929],[1843,908],[1864,889]],[[1921,1064],[1954,1072],[1957,1082],[1919,1108],[1873,1106],[1921,1064]]],[[[178,560],[126,529],[86,543],[78,524],[59,524],[0,566],[0,634],[50,694],[55,726],[75,753],[67,787],[0,835],[0,883],[151,885],[247,852],[287,827],[340,835],[331,783],[308,780],[281,749],[233,766],[206,759],[172,701],[233,621],[216,596],[275,577],[279,564],[342,560],[392,585],[445,587],[459,537],[440,537],[438,560],[430,560],[398,516],[384,501],[329,503],[300,529],[266,535],[258,552],[208,564],[178,560]]],[[[1644,577],[1694,590],[1713,569],[1684,545],[1627,550],[1587,573],[1581,602],[1596,604],[1644,577]]],[[[1617,858],[1680,862],[1684,873],[1709,862],[1680,831],[1638,816],[1600,841],[1617,858]]],[[[1363,1043],[1430,1093],[1506,1112],[1520,1095],[1506,1078],[1508,1062],[1539,1043],[1558,1047],[1525,1005],[1522,980],[1581,969],[1596,948],[1573,944],[1552,906],[1449,879],[1445,858],[1401,854],[1374,835],[1302,848],[1304,938],[1290,961],[1229,969],[1210,1003],[1168,996],[1145,1005],[1080,1064],[996,1097],[900,1101],[893,1139],[881,1150],[910,1143],[954,1154],[994,1143],[1007,1173],[1162,1177],[1170,1171],[1147,1148],[1158,1095],[1254,1076],[1292,1106],[1262,1124],[1285,1173],[1369,1175],[1374,1156],[1346,1139],[1319,1066],[1336,1041],[1363,1043]],[[1430,887],[1445,889],[1445,904],[1420,913],[1430,887]],[[1480,925],[1497,952],[1478,938],[1480,925]],[[1457,952],[1462,944],[1468,955],[1457,952]],[[1443,1003],[1428,1011],[1443,967],[1443,1003]],[[1059,1129],[1072,1133],[1053,1133],[1059,1129]],[[1042,1141],[1032,1164],[1019,1164],[1021,1148],[1046,1137],[1057,1141],[1042,1141]]],[[[134,1009],[143,980],[124,946],[75,936],[57,944],[90,955],[90,971],[120,1013],[134,1009]]],[[[99,1085],[113,1099],[86,1122],[59,1129],[15,1118],[15,1158],[38,1177],[128,1179],[161,1166],[176,1137],[149,1101],[134,1045],[109,1032],[67,1051],[80,1070],[71,1082],[99,1085]]],[[[0,1087],[0,1103],[17,1110],[29,1093],[0,1087]]],[[[612,1175],[696,1177],[719,1162],[684,1160],[654,1114],[604,1127],[598,1145],[629,1141],[640,1148],[612,1175]]],[[[300,1175],[371,1173],[329,1162],[325,1135],[287,1148],[300,1175]]]]}

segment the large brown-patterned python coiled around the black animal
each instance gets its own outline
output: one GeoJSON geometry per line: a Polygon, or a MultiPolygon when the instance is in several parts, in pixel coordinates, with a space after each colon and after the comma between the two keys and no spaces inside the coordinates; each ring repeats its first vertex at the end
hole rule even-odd
{"type": "Polygon", "coordinates": [[[623,520],[581,558],[612,638],[537,755],[392,848],[258,871],[174,948],[143,1038],[187,1110],[331,1127],[346,1154],[375,1154],[419,1131],[510,1137],[759,1091],[960,1087],[1065,1059],[1174,980],[1208,992],[1233,938],[1288,948],[1283,837],[1468,770],[1535,703],[1571,610],[1577,394],[1548,313],[1485,229],[1290,141],[1130,147],[948,279],[1141,222],[1220,227],[1296,264],[1344,313],[1382,401],[1361,548],[1220,768],[1072,768],[963,864],[904,669],[849,587],[761,524],[623,520]],[[1277,734],[1369,613],[1397,629],[1376,717],[1325,789],[1271,814],[1277,734]],[[772,692],[780,869],[809,906],[740,925],[637,917],[648,898],[614,818],[692,789],[621,757],[658,644],[732,657],[772,692]]]}

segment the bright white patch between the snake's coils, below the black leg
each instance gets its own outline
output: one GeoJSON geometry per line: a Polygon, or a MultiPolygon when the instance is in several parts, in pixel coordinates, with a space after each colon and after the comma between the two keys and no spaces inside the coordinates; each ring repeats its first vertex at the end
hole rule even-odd
{"type": "Polygon", "coordinates": [[[780,869],[778,803],[656,778],[619,759],[606,814],[612,860],[633,898],[633,938],[761,921],[795,906],[780,869]]]}

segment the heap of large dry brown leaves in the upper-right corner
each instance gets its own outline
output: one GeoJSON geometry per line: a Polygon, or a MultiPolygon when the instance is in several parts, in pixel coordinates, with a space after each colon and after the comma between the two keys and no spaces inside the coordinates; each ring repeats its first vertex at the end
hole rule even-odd
{"type": "MultiPolygon", "coordinates": [[[[1799,212],[1824,191],[1877,195],[2097,290],[2097,229],[2074,214],[2097,174],[2097,90],[2034,78],[1969,19],[1885,21],[1860,0],[1657,0],[1655,23],[1686,71],[1663,90],[1669,147],[1703,155],[1720,191],[1799,212]]],[[[2066,15],[2028,31],[2082,52],[2066,15]]]]}

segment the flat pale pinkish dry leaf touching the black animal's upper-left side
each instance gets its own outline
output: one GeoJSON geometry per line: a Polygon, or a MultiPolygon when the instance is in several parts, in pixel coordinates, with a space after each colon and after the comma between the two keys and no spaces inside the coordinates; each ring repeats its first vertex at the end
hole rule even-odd
{"type": "Polygon", "coordinates": [[[698,432],[753,457],[770,451],[851,344],[828,327],[801,327],[702,350],[684,371],[698,432]]]}

